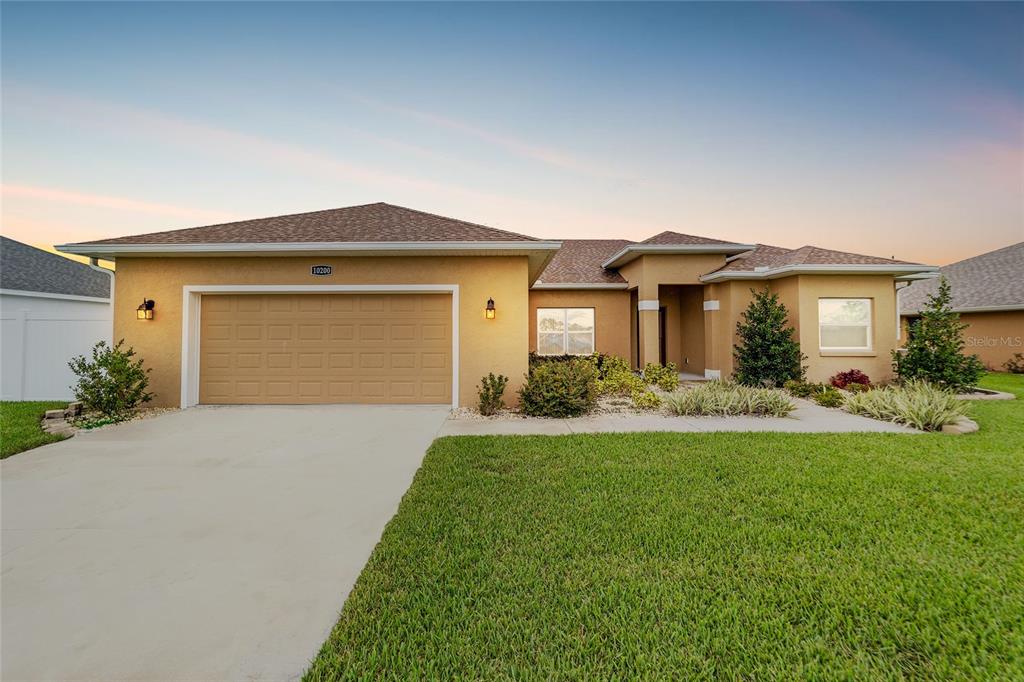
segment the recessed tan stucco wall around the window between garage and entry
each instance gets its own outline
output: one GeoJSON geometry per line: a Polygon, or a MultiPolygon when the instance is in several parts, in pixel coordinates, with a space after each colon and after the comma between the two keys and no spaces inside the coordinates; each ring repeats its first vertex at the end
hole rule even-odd
{"type": "Polygon", "coordinates": [[[537,350],[538,308],[594,308],[594,347],[598,352],[630,357],[630,293],[600,290],[534,290],[529,292],[529,349],[537,350]]]}

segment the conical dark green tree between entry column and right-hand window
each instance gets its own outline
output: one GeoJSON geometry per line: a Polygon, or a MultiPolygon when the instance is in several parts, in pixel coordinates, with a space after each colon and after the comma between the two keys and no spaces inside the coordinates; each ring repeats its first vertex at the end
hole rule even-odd
{"type": "Polygon", "coordinates": [[[777,294],[751,291],[754,300],[736,323],[739,344],[732,351],[733,378],[748,386],[781,386],[803,379],[806,356],[788,327],[788,310],[777,294]]]}

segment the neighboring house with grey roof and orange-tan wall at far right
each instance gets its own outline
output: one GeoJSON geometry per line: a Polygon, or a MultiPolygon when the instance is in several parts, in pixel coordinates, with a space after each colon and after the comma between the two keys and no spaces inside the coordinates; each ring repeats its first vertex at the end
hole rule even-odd
{"type": "MultiPolygon", "coordinates": [[[[968,325],[964,340],[986,367],[1002,369],[1014,353],[1024,352],[1024,242],[939,268],[949,281],[952,308],[968,325]]],[[[919,316],[938,280],[900,291],[900,314],[919,316]]]]}

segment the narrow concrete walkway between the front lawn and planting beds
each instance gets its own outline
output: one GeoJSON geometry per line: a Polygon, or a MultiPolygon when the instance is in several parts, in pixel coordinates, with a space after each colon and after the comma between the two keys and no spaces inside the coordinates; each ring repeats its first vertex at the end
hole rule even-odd
{"type": "Polygon", "coordinates": [[[445,435],[566,435],[569,433],[623,433],[672,431],[784,431],[792,433],[922,433],[899,424],[858,417],[794,398],[797,409],[786,418],[666,417],[663,415],[600,415],[575,419],[449,419],[445,435]]]}

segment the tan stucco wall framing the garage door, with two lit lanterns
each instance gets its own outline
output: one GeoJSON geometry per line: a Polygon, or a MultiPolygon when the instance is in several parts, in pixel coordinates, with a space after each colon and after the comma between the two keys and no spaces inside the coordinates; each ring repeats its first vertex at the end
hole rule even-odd
{"type": "Polygon", "coordinates": [[[460,286],[460,403],[475,404],[480,377],[495,372],[509,377],[505,398],[512,404],[526,373],[525,256],[122,258],[115,285],[114,338],[125,339],[153,369],[155,404],[176,406],[180,400],[182,287],[215,284],[456,284],[460,286]],[[332,265],[334,274],[313,278],[311,265],[332,265]],[[157,302],[153,321],[135,319],[143,297],[157,302]],[[497,306],[495,319],[483,316],[488,297],[497,306]]]}

